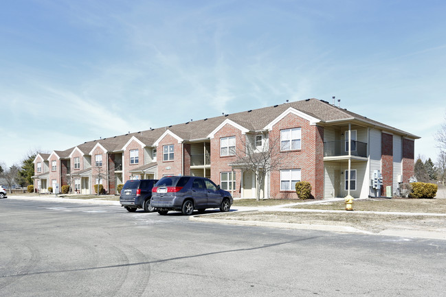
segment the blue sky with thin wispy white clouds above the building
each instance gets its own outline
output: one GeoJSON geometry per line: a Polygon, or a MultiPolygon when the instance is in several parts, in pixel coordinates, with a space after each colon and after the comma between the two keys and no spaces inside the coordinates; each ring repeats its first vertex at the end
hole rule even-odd
{"type": "Polygon", "coordinates": [[[5,1],[0,163],[333,96],[435,161],[445,15],[443,0],[5,1]]]}

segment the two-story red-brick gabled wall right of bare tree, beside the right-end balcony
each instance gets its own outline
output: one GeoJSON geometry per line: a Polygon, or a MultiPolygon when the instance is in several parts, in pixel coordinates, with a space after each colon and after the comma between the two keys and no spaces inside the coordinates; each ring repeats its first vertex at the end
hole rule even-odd
{"type": "Polygon", "coordinates": [[[271,198],[296,199],[296,191],[280,191],[280,169],[301,169],[301,178],[310,182],[311,194],[315,199],[324,197],[324,128],[310,126],[309,121],[289,114],[274,125],[269,132],[270,143],[277,141],[280,150],[280,130],[301,128],[301,150],[278,152],[280,168],[271,172],[271,198]]]}

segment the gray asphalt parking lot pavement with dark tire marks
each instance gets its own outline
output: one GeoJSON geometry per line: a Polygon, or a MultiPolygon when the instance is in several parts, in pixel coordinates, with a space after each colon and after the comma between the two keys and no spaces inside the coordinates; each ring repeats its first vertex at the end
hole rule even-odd
{"type": "Polygon", "coordinates": [[[446,241],[0,200],[0,296],[444,296],[446,241]]]}

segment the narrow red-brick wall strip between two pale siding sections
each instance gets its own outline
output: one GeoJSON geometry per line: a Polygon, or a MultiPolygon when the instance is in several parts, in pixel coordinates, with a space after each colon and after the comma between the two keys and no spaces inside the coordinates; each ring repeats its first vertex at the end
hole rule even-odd
{"type": "Polygon", "coordinates": [[[393,135],[387,133],[381,133],[381,174],[381,196],[385,196],[386,187],[393,184],[393,135]]]}

